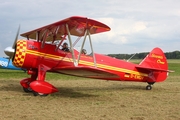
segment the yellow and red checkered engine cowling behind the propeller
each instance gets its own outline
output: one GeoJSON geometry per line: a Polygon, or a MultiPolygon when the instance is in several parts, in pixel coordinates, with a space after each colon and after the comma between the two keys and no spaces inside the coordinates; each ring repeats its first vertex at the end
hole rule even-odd
{"type": "Polygon", "coordinates": [[[25,55],[26,55],[26,41],[18,40],[13,64],[16,67],[22,67],[24,64],[25,55]]]}

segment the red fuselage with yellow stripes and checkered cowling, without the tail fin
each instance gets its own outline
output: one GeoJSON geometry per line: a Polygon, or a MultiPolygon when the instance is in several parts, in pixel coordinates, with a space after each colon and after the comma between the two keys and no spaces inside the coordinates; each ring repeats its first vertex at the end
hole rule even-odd
{"type": "MultiPolygon", "coordinates": [[[[75,60],[77,60],[79,52],[74,49],[74,53],[75,60]]],[[[38,70],[38,66],[42,64],[48,67],[48,71],[81,77],[153,82],[148,78],[149,71],[137,70],[136,64],[96,53],[95,58],[96,63],[94,63],[92,55],[81,54],[76,66],[72,59],[72,53],[61,49],[56,50],[55,44],[45,44],[42,49],[40,42],[19,40],[13,64],[30,71],[32,68],[38,70]]]]}

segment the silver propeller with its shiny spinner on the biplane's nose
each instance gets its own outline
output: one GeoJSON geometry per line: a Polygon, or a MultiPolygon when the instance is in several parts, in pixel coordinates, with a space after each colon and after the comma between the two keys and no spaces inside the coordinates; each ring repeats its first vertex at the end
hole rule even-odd
{"type": "Polygon", "coordinates": [[[13,46],[12,46],[12,47],[7,47],[7,48],[4,49],[4,53],[5,53],[7,56],[9,56],[9,59],[13,58],[13,56],[14,56],[15,46],[16,46],[16,42],[17,42],[17,40],[18,40],[19,31],[20,31],[20,25],[19,25],[18,31],[17,31],[17,33],[16,33],[16,37],[15,37],[13,46]]]}

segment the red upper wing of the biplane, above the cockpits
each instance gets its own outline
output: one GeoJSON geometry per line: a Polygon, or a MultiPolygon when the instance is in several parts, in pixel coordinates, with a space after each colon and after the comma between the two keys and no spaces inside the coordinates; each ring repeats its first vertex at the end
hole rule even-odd
{"type": "Polygon", "coordinates": [[[46,37],[46,41],[61,40],[63,35],[68,34],[66,29],[67,26],[70,34],[74,36],[83,36],[86,29],[89,30],[90,34],[110,30],[110,27],[96,20],[73,16],[30,32],[23,33],[21,36],[37,40],[42,40],[46,37]]]}

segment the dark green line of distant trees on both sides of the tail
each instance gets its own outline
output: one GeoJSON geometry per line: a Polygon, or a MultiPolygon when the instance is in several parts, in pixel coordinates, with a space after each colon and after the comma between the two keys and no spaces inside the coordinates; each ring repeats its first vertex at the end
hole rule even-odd
{"type": "MultiPolygon", "coordinates": [[[[136,54],[108,54],[108,56],[115,57],[117,59],[143,59],[149,52],[142,52],[136,54]]],[[[165,52],[164,53],[167,59],[180,59],[180,51],[173,51],[173,52],[165,52]]]]}

